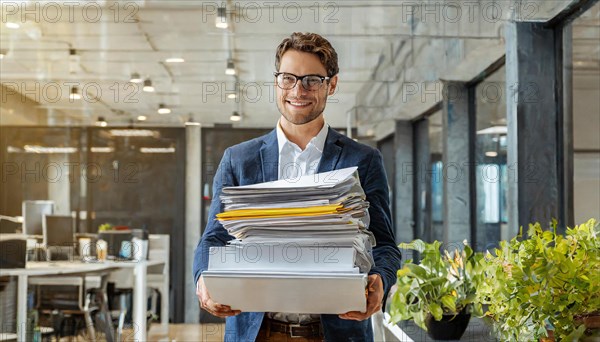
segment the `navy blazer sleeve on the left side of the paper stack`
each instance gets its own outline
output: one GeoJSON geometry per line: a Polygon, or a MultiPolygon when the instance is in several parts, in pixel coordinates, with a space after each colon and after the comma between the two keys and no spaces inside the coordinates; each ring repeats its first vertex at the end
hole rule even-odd
{"type": "Polygon", "coordinates": [[[198,282],[198,278],[200,278],[202,272],[206,271],[208,268],[210,247],[224,246],[227,241],[234,238],[227,233],[227,230],[225,230],[223,225],[217,221],[216,217],[218,213],[223,211],[223,204],[220,199],[221,190],[225,186],[235,186],[237,183],[231,166],[231,151],[228,148],[223,154],[223,158],[217,168],[217,173],[213,181],[213,197],[208,212],[206,229],[194,251],[194,284],[198,282]]]}

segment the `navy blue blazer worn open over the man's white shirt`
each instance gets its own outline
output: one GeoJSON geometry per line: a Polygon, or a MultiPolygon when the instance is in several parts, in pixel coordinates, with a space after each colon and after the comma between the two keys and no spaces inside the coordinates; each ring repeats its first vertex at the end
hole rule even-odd
{"type": "MultiPolygon", "coordinates": [[[[278,178],[279,149],[277,131],[252,139],[225,150],[213,183],[213,198],[208,223],[194,254],[194,283],[208,268],[209,248],[223,246],[233,239],[215,220],[223,211],[221,189],[226,186],[249,185],[274,181],[278,178]]],[[[373,248],[375,265],[369,274],[378,273],[383,280],[385,293],[396,282],[400,268],[400,250],[394,240],[390,212],[387,177],[381,153],[369,146],[329,128],[318,172],[358,166],[360,183],[369,201],[371,223],[369,230],[377,240],[373,248]]],[[[251,295],[251,294],[248,294],[251,295]]],[[[385,297],[383,307],[385,308],[385,297]]],[[[229,303],[222,303],[229,304],[229,303]]],[[[233,308],[235,309],[235,308],[233,308]]],[[[243,312],[226,320],[226,341],[253,341],[263,320],[262,312],[243,312]]],[[[362,322],[340,319],[337,315],[321,315],[325,338],[328,341],[373,340],[371,320],[362,322]]]]}

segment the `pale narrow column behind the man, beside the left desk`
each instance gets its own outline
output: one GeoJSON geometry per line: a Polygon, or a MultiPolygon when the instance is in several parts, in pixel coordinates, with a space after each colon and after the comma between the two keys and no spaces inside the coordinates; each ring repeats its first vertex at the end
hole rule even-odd
{"type": "Polygon", "coordinates": [[[187,126],[185,129],[185,323],[198,323],[200,307],[196,297],[196,284],[192,274],[194,250],[200,240],[202,197],[202,129],[187,126]]]}

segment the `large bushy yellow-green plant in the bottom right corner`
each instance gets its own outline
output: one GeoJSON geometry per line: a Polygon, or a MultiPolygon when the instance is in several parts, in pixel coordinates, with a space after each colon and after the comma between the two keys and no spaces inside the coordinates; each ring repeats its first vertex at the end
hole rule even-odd
{"type": "MultiPolygon", "coordinates": [[[[502,241],[495,256],[486,255],[486,278],[478,300],[488,305],[485,316],[503,341],[547,338],[560,341],[586,334],[600,309],[600,233],[598,223],[567,228],[565,236],[539,223],[502,241]]],[[[589,334],[589,332],[588,332],[589,334]]]]}

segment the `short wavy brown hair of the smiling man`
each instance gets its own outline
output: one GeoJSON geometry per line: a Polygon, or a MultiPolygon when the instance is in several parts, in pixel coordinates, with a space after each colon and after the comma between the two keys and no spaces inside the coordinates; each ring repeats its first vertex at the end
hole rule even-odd
{"type": "Polygon", "coordinates": [[[327,70],[327,76],[333,77],[340,71],[337,65],[337,53],[327,39],[316,33],[294,32],[277,47],[275,70],[279,71],[281,57],[288,50],[297,50],[317,55],[327,70]]]}

